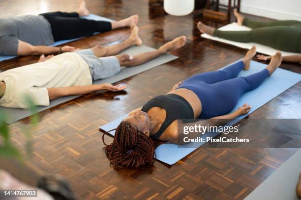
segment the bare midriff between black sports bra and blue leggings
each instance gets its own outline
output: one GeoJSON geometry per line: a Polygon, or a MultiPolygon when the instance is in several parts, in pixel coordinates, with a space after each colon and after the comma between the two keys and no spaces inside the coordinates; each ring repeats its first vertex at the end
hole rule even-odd
{"type": "Polygon", "coordinates": [[[188,101],[188,103],[191,105],[193,109],[194,118],[198,118],[201,115],[202,103],[194,92],[192,92],[191,90],[187,90],[185,88],[180,88],[172,91],[171,94],[179,95],[188,101]]]}

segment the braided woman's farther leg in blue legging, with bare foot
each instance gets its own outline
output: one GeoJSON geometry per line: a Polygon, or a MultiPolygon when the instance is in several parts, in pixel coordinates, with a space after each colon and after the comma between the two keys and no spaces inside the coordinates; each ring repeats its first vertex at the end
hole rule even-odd
{"type": "Polygon", "coordinates": [[[246,55],[241,61],[233,63],[232,65],[222,70],[200,73],[197,75],[190,76],[189,78],[183,81],[182,85],[185,85],[186,83],[190,84],[193,82],[205,82],[208,84],[213,84],[223,80],[235,78],[241,72],[241,70],[249,70],[250,60],[252,59],[252,57],[254,57],[255,54],[256,47],[253,46],[250,50],[247,51],[246,55]]]}

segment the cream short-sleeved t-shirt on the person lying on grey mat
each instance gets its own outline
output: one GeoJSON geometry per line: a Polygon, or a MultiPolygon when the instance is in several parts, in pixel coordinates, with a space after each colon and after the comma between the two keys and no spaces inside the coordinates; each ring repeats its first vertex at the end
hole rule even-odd
{"type": "Polygon", "coordinates": [[[73,52],[7,70],[0,73],[0,81],[6,85],[0,105],[11,108],[28,108],[24,95],[29,95],[36,105],[48,106],[47,88],[92,84],[88,64],[73,52]]]}

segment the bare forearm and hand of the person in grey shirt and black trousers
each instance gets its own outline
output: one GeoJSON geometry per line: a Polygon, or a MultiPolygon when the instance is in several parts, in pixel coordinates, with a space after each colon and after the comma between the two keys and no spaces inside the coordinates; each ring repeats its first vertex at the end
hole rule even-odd
{"type": "Polygon", "coordinates": [[[33,46],[29,43],[18,41],[18,55],[41,55],[61,52],[72,52],[78,49],[70,46],[50,47],[50,46],[33,46]]]}

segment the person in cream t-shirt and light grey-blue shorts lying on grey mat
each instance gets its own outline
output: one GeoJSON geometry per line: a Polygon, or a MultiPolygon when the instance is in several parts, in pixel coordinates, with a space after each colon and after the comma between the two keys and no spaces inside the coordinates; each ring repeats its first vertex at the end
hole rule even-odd
{"type": "Polygon", "coordinates": [[[120,44],[110,47],[97,45],[92,49],[47,58],[41,56],[38,63],[0,73],[0,105],[28,108],[24,95],[30,96],[36,105],[48,106],[50,100],[64,96],[83,95],[98,90],[123,90],[126,86],[108,83],[92,85],[92,81],[117,74],[120,66],[130,67],[148,62],[168,51],[181,48],[185,42],[186,38],[181,36],[158,50],[134,56],[116,55],[130,46],[142,44],[138,27],[132,25],[130,37],[120,44]]]}

